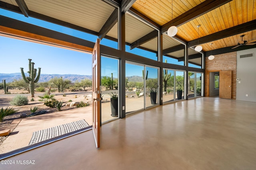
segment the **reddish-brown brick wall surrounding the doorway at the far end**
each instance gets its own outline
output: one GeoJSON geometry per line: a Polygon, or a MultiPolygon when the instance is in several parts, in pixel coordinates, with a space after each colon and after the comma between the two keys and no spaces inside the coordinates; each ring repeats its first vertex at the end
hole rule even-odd
{"type": "Polygon", "coordinates": [[[232,94],[236,99],[236,52],[214,55],[213,60],[205,58],[205,96],[209,96],[209,72],[232,70],[232,94]]]}

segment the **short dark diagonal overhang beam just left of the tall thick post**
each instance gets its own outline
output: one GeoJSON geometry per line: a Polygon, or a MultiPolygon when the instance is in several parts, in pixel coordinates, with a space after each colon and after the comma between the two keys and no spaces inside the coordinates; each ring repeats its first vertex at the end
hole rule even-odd
{"type": "Polygon", "coordinates": [[[110,29],[112,29],[112,27],[114,27],[114,25],[117,23],[117,21],[118,21],[118,9],[115,8],[114,11],[112,12],[112,14],[110,15],[110,17],[108,18],[108,20],[105,22],[103,27],[100,29],[100,32],[98,33],[98,37],[100,39],[104,38],[105,35],[108,33],[108,31],[110,31],[110,29]]]}

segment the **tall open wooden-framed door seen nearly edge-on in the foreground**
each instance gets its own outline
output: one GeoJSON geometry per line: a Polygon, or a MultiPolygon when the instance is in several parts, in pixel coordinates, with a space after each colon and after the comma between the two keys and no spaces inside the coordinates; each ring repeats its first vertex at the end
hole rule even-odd
{"type": "Polygon", "coordinates": [[[92,131],[96,147],[100,147],[100,39],[92,51],[92,131]]]}

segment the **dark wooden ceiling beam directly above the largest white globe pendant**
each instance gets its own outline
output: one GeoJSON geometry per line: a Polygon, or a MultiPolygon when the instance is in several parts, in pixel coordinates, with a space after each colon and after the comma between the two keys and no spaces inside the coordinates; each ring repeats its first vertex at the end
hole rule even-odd
{"type": "Polygon", "coordinates": [[[172,25],[175,25],[176,27],[178,27],[184,23],[187,23],[230,1],[232,0],[205,0],[201,4],[195,6],[194,8],[188,10],[187,12],[181,14],[180,16],[174,18],[172,21],[169,21],[168,23],[162,25],[161,32],[162,33],[166,32],[168,28],[172,25]]]}

